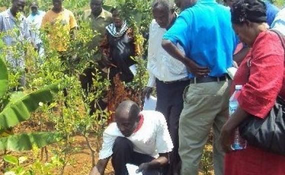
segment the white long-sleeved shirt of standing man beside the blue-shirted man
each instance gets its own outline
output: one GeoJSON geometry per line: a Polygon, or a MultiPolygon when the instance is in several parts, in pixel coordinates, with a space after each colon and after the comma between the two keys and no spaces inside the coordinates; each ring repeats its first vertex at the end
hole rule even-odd
{"type": "MultiPolygon", "coordinates": [[[[165,28],[161,28],[155,19],[149,26],[147,70],[149,74],[148,87],[153,87],[155,78],[161,81],[174,81],[188,76],[185,65],[170,56],[161,46],[165,28]]],[[[184,52],[183,48],[179,49],[184,52]]]]}

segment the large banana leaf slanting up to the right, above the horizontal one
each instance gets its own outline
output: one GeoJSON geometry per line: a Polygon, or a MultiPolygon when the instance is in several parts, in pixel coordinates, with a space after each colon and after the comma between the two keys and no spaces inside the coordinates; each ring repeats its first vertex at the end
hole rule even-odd
{"type": "Polygon", "coordinates": [[[8,104],[0,113],[0,130],[27,120],[30,117],[30,112],[35,111],[39,106],[39,102],[51,101],[52,92],[58,92],[58,90],[58,83],[53,83],[8,104]]]}

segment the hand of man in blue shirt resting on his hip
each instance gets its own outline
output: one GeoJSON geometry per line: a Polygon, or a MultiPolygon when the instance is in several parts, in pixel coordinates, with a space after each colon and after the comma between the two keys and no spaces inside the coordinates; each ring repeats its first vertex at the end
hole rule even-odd
{"type": "Polygon", "coordinates": [[[193,60],[187,58],[186,60],[186,67],[187,70],[191,73],[193,73],[196,77],[201,76],[208,76],[210,73],[210,70],[208,67],[202,67],[196,64],[193,60]]]}

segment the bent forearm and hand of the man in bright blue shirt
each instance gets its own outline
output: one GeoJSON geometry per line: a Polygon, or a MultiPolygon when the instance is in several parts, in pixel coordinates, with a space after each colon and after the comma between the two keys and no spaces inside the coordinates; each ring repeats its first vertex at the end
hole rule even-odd
{"type": "Polygon", "coordinates": [[[162,39],[161,45],[173,58],[181,61],[187,67],[187,70],[195,76],[207,76],[209,74],[208,67],[201,67],[196,64],[193,60],[183,54],[170,40],[162,39]]]}

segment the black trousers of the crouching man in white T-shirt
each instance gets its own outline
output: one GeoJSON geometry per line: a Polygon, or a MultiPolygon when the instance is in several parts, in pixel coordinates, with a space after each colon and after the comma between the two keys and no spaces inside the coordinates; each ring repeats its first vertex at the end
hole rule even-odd
{"type": "MultiPolygon", "coordinates": [[[[153,160],[152,156],[133,151],[132,142],[125,137],[117,137],[113,145],[112,166],[115,175],[127,175],[126,164],[135,164],[139,166],[141,163],[153,160]]],[[[151,169],[143,172],[143,175],[161,175],[162,169],[151,169]]]]}

